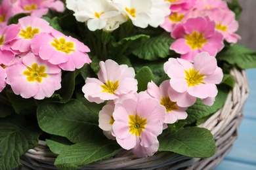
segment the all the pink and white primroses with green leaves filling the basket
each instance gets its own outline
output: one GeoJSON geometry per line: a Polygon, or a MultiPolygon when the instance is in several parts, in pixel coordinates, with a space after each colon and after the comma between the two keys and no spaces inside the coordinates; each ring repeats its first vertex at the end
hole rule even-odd
{"type": "Polygon", "coordinates": [[[239,46],[237,1],[3,0],[0,169],[46,143],[59,169],[129,150],[215,154],[198,127],[223,107],[239,46]]]}

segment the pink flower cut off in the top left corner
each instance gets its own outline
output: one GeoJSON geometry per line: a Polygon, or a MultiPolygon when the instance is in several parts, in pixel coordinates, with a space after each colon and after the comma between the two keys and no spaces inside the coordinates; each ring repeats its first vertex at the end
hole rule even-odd
{"type": "Polygon", "coordinates": [[[12,6],[9,0],[3,0],[0,5],[0,29],[7,25],[11,16],[13,16],[12,6]]]}

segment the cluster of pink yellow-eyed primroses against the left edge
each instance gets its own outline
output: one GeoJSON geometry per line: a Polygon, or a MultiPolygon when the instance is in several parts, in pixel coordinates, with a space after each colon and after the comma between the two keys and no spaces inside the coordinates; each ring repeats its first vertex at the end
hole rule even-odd
{"type": "Polygon", "coordinates": [[[51,97],[61,88],[61,70],[90,63],[82,42],[56,31],[45,20],[26,16],[0,29],[0,90],[9,84],[24,98],[51,97]]]}

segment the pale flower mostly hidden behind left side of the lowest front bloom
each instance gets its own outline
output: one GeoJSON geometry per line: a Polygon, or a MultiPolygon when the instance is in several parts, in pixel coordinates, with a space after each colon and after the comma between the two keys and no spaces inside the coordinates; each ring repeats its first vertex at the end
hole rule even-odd
{"type": "Polygon", "coordinates": [[[112,125],[114,124],[113,112],[115,104],[113,101],[108,101],[98,113],[98,127],[102,129],[104,135],[108,139],[115,140],[116,137],[112,135],[112,125]]]}

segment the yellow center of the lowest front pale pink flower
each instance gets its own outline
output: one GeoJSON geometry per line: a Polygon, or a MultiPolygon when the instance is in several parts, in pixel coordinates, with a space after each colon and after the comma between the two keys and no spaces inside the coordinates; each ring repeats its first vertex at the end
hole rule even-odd
{"type": "Polygon", "coordinates": [[[140,118],[138,114],[135,116],[129,115],[129,125],[130,125],[130,130],[129,132],[133,135],[136,135],[137,137],[140,137],[140,133],[142,132],[143,129],[146,127],[146,118],[140,118]]]}

